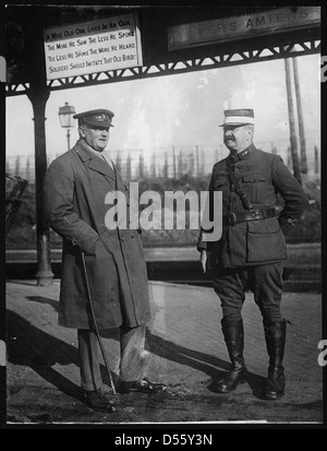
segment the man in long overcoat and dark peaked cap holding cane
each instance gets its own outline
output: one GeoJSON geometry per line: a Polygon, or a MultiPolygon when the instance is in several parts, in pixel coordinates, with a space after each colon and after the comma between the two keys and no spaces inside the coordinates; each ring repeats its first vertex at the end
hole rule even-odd
{"type": "MultiPolygon", "coordinates": [[[[82,252],[99,330],[120,328],[122,393],[164,390],[144,377],[144,349],[150,318],[146,263],[140,229],[106,226],[106,195],[129,189],[108,152],[113,112],[96,109],[75,115],[80,139],[49,166],[45,177],[45,212],[63,238],[59,325],[77,329],[81,385],[96,411],[113,412],[112,393],[104,385],[99,344],[88,308],[82,252]]],[[[112,205],[111,205],[112,207],[112,205]]],[[[129,211],[126,212],[129,218],[129,211]]]]}

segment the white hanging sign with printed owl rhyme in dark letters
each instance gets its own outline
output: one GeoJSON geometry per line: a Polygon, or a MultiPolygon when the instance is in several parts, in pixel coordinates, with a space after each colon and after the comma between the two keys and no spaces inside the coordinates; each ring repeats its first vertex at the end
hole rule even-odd
{"type": "Polygon", "coordinates": [[[142,66],[136,12],[44,29],[48,80],[142,66]]]}

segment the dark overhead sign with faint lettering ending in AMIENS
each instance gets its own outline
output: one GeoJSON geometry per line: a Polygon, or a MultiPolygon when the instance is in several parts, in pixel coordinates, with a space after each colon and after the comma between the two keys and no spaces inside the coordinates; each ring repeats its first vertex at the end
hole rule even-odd
{"type": "Polygon", "coordinates": [[[302,29],[320,24],[320,7],[290,7],[168,28],[168,49],[178,50],[271,33],[302,29]]]}

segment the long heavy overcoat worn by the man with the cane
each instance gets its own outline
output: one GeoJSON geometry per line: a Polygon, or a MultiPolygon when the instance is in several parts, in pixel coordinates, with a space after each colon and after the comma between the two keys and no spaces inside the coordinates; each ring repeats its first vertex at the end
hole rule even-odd
{"type": "Polygon", "coordinates": [[[146,262],[140,229],[109,229],[106,195],[129,188],[120,174],[78,140],[49,166],[45,176],[45,213],[63,238],[59,325],[92,329],[82,266],[85,254],[89,289],[99,329],[130,328],[150,318],[146,262]]]}

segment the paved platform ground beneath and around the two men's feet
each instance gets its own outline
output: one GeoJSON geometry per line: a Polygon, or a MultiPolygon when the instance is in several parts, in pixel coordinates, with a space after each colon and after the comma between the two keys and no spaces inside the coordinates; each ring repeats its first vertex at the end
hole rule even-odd
{"type": "MultiPolygon", "coordinates": [[[[95,413],[80,397],[76,333],[57,325],[59,281],[8,281],[8,418],[11,424],[209,425],[234,422],[322,424],[322,297],[287,293],[284,356],[287,393],[261,399],[267,354],[262,320],[251,294],[244,305],[249,382],[235,392],[216,394],[213,380],[228,369],[220,330],[220,306],[211,288],[150,282],[153,319],[148,324],[147,376],[168,383],[165,393],[117,395],[113,414],[95,413]]],[[[117,331],[104,334],[111,369],[118,368],[117,331]]],[[[104,378],[106,371],[104,370],[104,378]]]]}

